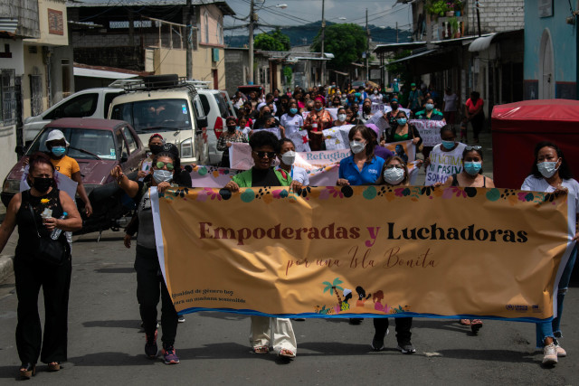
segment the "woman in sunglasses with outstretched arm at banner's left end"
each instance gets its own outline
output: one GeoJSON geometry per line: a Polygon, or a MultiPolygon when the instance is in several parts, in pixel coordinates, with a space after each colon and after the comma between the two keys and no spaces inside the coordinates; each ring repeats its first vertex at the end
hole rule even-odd
{"type": "Polygon", "coordinates": [[[167,188],[176,186],[176,155],[162,151],[153,157],[150,179],[131,181],[119,165],[110,175],[118,182],[119,187],[138,203],[138,235],[135,270],[137,271],[137,299],[141,320],[145,328],[145,354],[149,358],[157,357],[157,304],[161,297],[161,325],[163,325],[163,356],[166,364],[175,364],[179,358],[175,351],[178,316],[171,296],[167,291],[165,280],[160,275],[161,268],[157,257],[157,243],[153,226],[153,212],[149,188],[156,186],[163,193],[167,188]]]}

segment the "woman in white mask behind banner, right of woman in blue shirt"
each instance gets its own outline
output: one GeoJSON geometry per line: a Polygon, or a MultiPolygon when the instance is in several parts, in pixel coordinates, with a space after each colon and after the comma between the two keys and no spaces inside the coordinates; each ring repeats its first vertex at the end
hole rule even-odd
{"type": "MultiPolygon", "coordinates": [[[[378,185],[386,186],[408,186],[410,184],[410,176],[408,174],[408,167],[406,163],[397,155],[391,156],[384,162],[382,173],[376,182],[378,185]]],[[[410,329],[413,326],[412,317],[396,317],[394,318],[396,325],[396,341],[398,342],[397,349],[401,353],[416,353],[410,338],[412,333],[410,329]]],[[[372,349],[374,351],[384,350],[384,338],[388,334],[389,321],[387,317],[374,318],[374,338],[372,339],[372,349]]]]}

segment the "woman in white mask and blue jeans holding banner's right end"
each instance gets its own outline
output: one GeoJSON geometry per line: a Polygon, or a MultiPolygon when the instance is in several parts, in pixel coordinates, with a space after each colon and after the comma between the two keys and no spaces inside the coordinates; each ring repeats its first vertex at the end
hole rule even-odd
{"type": "MultiPolygon", "coordinates": [[[[565,155],[558,146],[551,142],[541,142],[535,147],[535,163],[531,168],[531,175],[525,179],[521,190],[546,193],[566,191],[567,204],[573,208],[570,212],[575,213],[575,218],[569,216],[569,225],[575,227],[576,213],[579,211],[579,183],[574,180],[571,169],[565,161],[565,155]]],[[[578,237],[579,232],[575,230],[573,240],[576,241],[578,237]]],[[[552,322],[536,324],[536,347],[543,348],[543,364],[546,365],[553,365],[557,362],[557,357],[566,356],[565,350],[559,345],[557,339],[563,337],[560,328],[563,300],[576,257],[577,244],[575,243],[559,280],[556,297],[557,315],[552,322]]]]}

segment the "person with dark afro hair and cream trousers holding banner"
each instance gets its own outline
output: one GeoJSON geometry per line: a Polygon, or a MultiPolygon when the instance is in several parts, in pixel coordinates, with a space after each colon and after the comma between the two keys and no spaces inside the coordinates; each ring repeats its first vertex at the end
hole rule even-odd
{"type": "MultiPolygon", "coordinates": [[[[301,184],[292,183],[291,174],[272,167],[275,156],[280,154],[280,140],[269,131],[257,131],[250,137],[252,158],[255,165],[250,170],[235,174],[224,186],[231,192],[254,186],[290,186],[299,189],[301,184]]],[[[297,353],[296,335],[288,318],[253,316],[250,328],[253,353],[269,353],[270,345],[282,358],[294,358],[297,353]]]]}

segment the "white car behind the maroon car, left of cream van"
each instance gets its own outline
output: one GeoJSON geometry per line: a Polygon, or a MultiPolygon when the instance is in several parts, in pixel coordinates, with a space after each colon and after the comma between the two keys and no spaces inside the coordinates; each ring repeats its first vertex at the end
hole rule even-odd
{"type": "Polygon", "coordinates": [[[24,119],[24,143],[30,145],[43,127],[59,118],[107,118],[112,99],[124,90],[119,87],[83,89],[62,99],[43,113],[24,119]]]}

